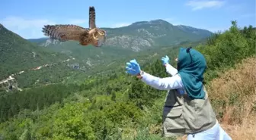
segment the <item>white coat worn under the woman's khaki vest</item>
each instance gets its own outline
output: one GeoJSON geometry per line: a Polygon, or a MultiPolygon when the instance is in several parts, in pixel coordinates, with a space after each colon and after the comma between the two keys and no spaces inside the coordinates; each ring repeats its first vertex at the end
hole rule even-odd
{"type": "MultiPolygon", "coordinates": [[[[184,85],[179,76],[178,70],[172,67],[170,64],[166,65],[166,72],[170,74],[170,77],[159,78],[152,76],[149,73],[142,73],[142,81],[146,82],[147,85],[154,87],[159,90],[170,90],[178,89],[178,92],[184,94],[184,85]]],[[[187,140],[232,140],[230,136],[219,126],[218,120],[216,125],[211,129],[196,134],[187,135],[187,140]]]]}

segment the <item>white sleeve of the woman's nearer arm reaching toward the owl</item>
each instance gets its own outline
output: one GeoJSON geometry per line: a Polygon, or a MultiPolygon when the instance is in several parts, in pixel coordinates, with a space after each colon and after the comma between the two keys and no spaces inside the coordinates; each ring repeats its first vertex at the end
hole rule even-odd
{"type": "Polygon", "coordinates": [[[156,76],[152,76],[149,73],[141,71],[141,73],[139,73],[137,77],[141,79],[142,82],[146,82],[147,85],[159,90],[183,88],[181,77],[178,74],[167,78],[159,78],[156,76]]]}

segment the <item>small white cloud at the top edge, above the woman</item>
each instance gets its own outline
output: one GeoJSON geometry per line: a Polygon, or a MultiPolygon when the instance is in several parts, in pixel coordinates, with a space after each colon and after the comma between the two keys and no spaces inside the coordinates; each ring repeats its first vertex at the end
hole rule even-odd
{"type": "Polygon", "coordinates": [[[224,5],[223,1],[202,1],[202,0],[193,0],[186,3],[187,6],[192,7],[193,11],[197,11],[203,8],[220,8],[224,5]]]}

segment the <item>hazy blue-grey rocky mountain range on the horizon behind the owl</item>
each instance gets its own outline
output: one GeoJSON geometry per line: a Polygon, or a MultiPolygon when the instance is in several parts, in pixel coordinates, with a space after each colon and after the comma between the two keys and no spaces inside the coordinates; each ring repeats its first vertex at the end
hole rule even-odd
{"type": "Polygon", "coordinates": [[[139,21],[120,28],[103,28],[107,41],[101,48],[78,45],[78,42],[51,42],[48,38],[28,39],[50,50],[68,54],[81,60],[85,67],[108,65],[113,61],[131,56],[148,54],[149,50],[159,51],[187,42],[200,42],[213,35],[208,30],[191,26],[174,26],[165,20],[139,21]]]}

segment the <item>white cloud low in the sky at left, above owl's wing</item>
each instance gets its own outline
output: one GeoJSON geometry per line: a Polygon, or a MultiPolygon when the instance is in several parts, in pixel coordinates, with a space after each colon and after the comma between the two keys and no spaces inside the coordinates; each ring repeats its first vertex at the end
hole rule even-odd
{"type": "Polygon", "coordinates": [[[47,19],[25,19],[23,17],[5,17],[0,19],[2,23],[8,30],[11,30],[14,33],[17,33],[19,36],[24,39],[36,39],[44,37],[42,33],[42,27],[47,24],[82,24],[87,22],[87,20],[81,19],[70,19],[65,22],[56,22],[53,20],[47,19]]]}

